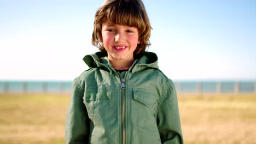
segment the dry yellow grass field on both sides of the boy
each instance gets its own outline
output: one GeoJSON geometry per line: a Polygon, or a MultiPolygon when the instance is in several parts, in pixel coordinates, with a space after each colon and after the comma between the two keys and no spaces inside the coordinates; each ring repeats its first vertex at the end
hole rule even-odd
{"type": "MultiPolygon", "coordinates": [[[[256,143],[256,95],[178,94],[185,143],[256,143]]],[[[0,143],[65,143],[69,94],[0,94],[0,143]]]]}

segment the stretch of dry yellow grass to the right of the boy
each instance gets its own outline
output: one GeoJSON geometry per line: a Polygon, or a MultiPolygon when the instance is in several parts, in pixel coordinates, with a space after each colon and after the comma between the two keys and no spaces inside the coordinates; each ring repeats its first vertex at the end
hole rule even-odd
{"type": "Polygon", "coordinates": [[[185,143],[256,143],[256,95],[179,94],[185,143]]]}

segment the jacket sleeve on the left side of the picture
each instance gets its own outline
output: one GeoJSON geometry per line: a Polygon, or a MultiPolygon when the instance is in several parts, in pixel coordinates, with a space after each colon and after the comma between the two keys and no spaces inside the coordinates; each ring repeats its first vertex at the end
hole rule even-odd
{"type": "Polygon", "coordinates": [[[67,110],[65,140],[66,144],[88,143],[90,119],[83,103],[84,90],[78,78],[72,84],[72,95],[67,110]]]}

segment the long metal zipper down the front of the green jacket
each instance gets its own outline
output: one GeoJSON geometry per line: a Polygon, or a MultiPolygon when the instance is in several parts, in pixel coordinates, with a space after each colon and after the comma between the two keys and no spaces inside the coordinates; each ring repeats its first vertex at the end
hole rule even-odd
{"type": "Polygon", "coordinates": [[[121,136],[121,143],[125,144],[125,134],[126,134],[126,128],[125,128],[125,79],[127,75],[127,71],[125,72],[124,77],[121,77],[120,73],[119,77],[121,79],[121,130],[122,130],[122,136],[121,136]]]}

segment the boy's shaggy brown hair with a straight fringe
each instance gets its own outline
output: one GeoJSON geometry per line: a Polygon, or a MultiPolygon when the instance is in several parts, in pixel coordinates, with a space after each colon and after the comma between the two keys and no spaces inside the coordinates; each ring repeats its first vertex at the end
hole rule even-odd
{"type": "Polygon", "coordinates": [[[97,9],[94,20],[94,32],[92,33],[91,43],[97,46],[100,51],[106,51],[102,44],[102,23],[108,21],[110,25],[126,25],[137,27],[138,40],[133,55],[138,55],[146,50],[150,45],[149,37],[152,27],[144,4],[141,0],[106,0],[103,5],[97,9]]]}

